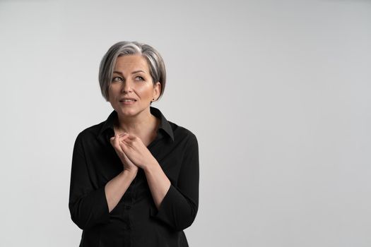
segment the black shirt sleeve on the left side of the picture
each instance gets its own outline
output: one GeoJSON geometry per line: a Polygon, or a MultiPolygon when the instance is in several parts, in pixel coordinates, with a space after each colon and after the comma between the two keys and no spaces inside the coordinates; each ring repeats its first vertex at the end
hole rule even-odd
{"type": "Polygon", "coordinates": [[[81,229],[110,221],[105,187],[94,188],[90,181],[81,134],[73,147],[69,211],[72,221],[81,229]]]}

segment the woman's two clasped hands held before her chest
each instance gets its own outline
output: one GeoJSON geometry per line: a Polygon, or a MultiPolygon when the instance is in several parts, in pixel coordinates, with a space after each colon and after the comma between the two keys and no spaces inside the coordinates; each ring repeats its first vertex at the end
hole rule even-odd
{"type": "Polygon", "coordinates": [[[124,171],[136,174],[138,168],[146,170],[153,162],[157,162],[155,157],[148,150],[141,138],[129,133],[114,134],[110,142],[117,155],[124,164],[124,171]]]}

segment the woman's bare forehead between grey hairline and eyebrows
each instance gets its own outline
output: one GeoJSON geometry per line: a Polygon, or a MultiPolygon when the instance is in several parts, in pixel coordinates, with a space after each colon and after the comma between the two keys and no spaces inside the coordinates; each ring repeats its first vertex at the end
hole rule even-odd
{"type": "Polygon", "coordinates": [[[126,55],[119,56],[114,65],[114,71],[131,72],[131,71],[145,71],[148,72],[148,63],[141,55],[126,55]]]}

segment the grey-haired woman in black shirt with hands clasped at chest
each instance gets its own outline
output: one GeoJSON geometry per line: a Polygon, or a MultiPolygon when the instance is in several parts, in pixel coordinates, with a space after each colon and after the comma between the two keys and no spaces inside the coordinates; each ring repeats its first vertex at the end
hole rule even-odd
{"type": "Polygon", "coordinates": [[[151,107],[165,80],[147,44],[119,42],[103,57],[100,89],[114,111],[73,148],[69,210],[83,229],[80,246],[188,246],[199,152],[193,133],[151,107]]]}

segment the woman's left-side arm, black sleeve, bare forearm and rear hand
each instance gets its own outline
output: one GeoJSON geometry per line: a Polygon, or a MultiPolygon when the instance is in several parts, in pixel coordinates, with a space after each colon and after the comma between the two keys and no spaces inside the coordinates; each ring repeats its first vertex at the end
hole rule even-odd
{"type": "MultiPolygon", "coordinates": [[[[114,139],[112,140],[114,146],[114,139]]],[[[114,148],[116,150],[116,147],[114,148]]],[[[88,229],[110,221],[110,212],[119,203],[136,176],[135,167],[131,168],[128,169],[128,166],[124,165],[124,171],[119,175],[105,186],[95,188],[90,182],[81,135],[78,135],[73,147],[69,210],[72,221],[79,228],[88,229]]]]}

